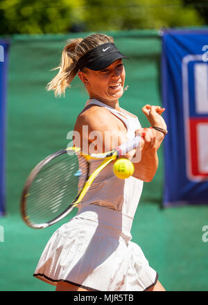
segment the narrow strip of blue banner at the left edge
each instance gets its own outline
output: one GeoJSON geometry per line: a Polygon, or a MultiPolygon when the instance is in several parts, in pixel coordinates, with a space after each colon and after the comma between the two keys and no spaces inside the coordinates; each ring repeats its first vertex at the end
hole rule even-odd
{"type": "Polygon", "coordinates": [[[6,213],[5,132],[9,42],[0,40],[0,216],[6,213]]]}

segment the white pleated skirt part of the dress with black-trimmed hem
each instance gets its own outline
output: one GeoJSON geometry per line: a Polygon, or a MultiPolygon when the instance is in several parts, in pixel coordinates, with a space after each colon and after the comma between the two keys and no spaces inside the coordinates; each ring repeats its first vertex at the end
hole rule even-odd
{"type": "Polygon", "coordinates": [[[142,291],[154,286],[139,245],[130,241],[132,218],[90,204],[51,236],[34,276],[49,284],[58,281],[100,291],[142,291]]]}

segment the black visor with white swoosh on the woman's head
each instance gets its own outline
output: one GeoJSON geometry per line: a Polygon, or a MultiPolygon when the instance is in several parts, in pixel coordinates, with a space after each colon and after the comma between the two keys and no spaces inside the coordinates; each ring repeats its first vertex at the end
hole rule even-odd
{"type": "Polygon", "coordinates": [[[100,71],[120,58],[128,58],[123,55],[112,42],[107,42],[96,46],[83,55],[77,62],[78,68],[88,68],[94,71],[100,71]]]}

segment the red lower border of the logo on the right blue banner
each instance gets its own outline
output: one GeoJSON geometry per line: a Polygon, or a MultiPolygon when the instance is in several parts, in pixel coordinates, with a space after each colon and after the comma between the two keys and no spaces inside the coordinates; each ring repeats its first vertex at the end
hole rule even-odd
{"type": "MultiPolygon", "coordinates": [[[[207,123],[208,118],[189,119],[189,131],[190,131],[190,155],[191,155],[191,174],[193,176],[208,177],[208,172],[201,172],[199,168],[199,146],[198,146],[198,131],[197,127],[199,123],[207,123]]],[[[207,136],[208,138],[208,136],[207,136]]]]}

